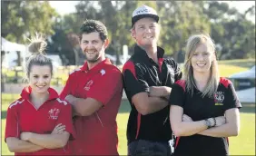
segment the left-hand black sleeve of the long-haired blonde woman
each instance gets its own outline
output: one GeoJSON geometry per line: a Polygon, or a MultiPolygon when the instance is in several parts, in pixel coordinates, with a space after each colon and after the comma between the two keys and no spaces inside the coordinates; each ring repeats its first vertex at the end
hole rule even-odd
{"type": "Polygon", "coordinates": [[[183,108],[185,99],[185,92],[182,84],[174,83],[172,85],[172,92],[170,93],[169,104],[170,105],[178,105],[183,108]]]}

